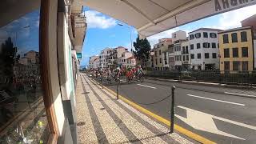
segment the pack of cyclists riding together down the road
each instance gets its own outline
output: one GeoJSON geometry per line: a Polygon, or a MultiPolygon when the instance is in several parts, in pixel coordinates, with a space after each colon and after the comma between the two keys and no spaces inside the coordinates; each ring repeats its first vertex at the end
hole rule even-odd
{"type": "Polygon", "coordinates": [[[126,76],[126,81],[131,82],[133,80],[142,81],[144,78],[144,72],[141,66],[135,66],[133,68],[117,67],[116,69],[110,68],[98,68],[91,69],[90,73],[94,75],[95,78],[106,78],[107,81],[114,79],[118,80],[121,76],[126,76]]]}

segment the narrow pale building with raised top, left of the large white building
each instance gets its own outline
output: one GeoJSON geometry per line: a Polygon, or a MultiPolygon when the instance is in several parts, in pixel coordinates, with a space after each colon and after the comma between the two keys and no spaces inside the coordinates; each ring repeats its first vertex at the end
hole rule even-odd
{"type": "Polygon", "coordinates": [[[182,42],[186,41],[186,32],[178,30],[172,34],[174,40],[174,53],[170,53],[170,57],[174,57],[174,70],[182,70],[182,42]]]}

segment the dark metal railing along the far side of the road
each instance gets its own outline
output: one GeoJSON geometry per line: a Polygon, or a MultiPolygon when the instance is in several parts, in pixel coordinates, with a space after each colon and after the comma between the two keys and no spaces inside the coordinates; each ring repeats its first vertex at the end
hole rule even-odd
{"type": "Polygon", "coordinates": [[[219,70],[150,70],[147,71],[146,76],[198,82],[218,82],[233,85],[256,86],[256,71],[238,71],[230,73],[219,70]]]}

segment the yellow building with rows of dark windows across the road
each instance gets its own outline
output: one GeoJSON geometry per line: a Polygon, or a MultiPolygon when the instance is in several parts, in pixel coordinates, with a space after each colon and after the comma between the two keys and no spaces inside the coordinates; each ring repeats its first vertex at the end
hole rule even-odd
{"type": "Polygon", "coordinates": [[[220,70],[237,72],[254,70],[254,44],[250,26],[218,33],[220,70]]]}

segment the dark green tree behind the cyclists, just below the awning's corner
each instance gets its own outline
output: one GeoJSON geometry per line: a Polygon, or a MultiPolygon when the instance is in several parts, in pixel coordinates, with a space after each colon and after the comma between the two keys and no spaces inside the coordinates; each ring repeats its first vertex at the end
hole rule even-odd
{"type": "Polygon", "coordinates": [[[136,42],[134,42],[134,54],[141,61],[147,61],[150,55],[150,42],[144,38],[139,39],[139,36],[136,38],[136,42]]]}

